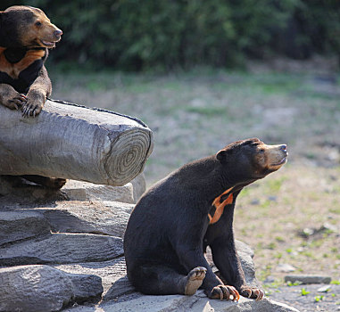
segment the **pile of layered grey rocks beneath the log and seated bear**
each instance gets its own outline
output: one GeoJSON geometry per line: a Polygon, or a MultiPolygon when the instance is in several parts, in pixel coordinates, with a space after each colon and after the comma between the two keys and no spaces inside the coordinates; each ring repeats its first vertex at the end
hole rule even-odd
{"type": "MultiPolygon", "coordinates": [[[[297,311],[271,300],[208,300],[202,291],[135,292],[122,237],[144,191],[143,176],[121,187],[69,181],[60,193],[0,177],[0,312],[297,311]]],[[[253,250],[243,242],[237,250],[256,284],[253,250]]]]}

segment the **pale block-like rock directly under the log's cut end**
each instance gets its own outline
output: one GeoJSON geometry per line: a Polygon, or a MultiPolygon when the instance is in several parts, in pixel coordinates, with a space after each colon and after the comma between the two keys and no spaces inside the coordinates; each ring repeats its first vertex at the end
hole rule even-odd
{"type": "Polygon", "coordinates": [[[62,187],[71,201],[120,201],[134,203],[134,191],[131,183],[123,186],[95,185],[83,181],[69,180],[62,187]]]}

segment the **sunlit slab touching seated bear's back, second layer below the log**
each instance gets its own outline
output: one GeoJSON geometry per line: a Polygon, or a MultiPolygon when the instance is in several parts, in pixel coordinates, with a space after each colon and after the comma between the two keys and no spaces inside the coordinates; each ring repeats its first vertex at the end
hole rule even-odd
{"type": "Polygon", "coordinates": [[[122,237],[133,208],[119,201],[61,201],[43,212],[54,232],[122,237]]]}

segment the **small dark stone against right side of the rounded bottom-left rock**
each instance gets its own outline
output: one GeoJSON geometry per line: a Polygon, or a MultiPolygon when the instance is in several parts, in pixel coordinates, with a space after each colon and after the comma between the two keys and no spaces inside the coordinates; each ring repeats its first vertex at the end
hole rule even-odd
{"type": "Polygon", "coordinates": [[[67,274],[67,276],[73,284],[74,300],[77,303],[101,299],[103,285],[99,276],[85,274],[67,274]]]}

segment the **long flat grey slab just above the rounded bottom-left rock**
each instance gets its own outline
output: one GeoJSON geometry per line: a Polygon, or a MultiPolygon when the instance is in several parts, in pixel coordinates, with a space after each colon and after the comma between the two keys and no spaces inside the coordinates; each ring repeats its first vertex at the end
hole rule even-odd
{"type": "Polygon", "coordinates": [[[0,253],[0,266],[104,261],[123,254],[120,237],[52,234],[44,240],[19,242],[0,253]]]}

